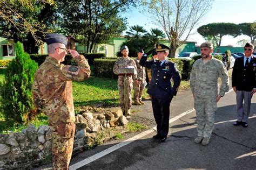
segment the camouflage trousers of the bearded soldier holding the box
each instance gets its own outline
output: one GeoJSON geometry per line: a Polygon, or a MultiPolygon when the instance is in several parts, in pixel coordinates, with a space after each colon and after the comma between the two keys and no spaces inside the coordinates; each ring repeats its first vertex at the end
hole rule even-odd
{"type": "Polygon", "coordinates": [[[122,110],[124,110],[124,107],[125,107],[124,101],[126,100],[126,101],[128,101],[127,109],[131,109],[131,107],[132,107],[132,88],[133,88],[131,77],[129,77],[127,80],[125,80],[124,77],[122,77],[122,79],[118,78],[117,86],[118,86],[118,90],[119,90],[120,107],[122,108],[122,110]],[[124,86],[124,81],[127,81],[127,94],[124,93],[126,91],[125,86],[124,86]]]}

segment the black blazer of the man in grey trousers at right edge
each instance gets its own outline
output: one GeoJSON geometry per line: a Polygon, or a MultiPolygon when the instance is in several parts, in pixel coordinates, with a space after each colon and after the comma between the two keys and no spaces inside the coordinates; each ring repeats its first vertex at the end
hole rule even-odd
{"type": "Polygon", "coordinates": [[[235,59],[232,72],[232,87],[241,91],[256,88],[256,58],[252,56],[248,67],[244,66],[244,57],[235,59]]]}

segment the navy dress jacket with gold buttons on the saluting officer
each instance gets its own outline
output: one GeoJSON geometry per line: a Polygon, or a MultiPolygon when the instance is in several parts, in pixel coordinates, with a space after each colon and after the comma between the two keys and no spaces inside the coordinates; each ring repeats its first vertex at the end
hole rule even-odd
{"type": "Polygon", "coordinates": [[[159,61],[147,61],[147,55],[143,55],[139,64],[151,68],[152,80],[147,88],[148,94],[152,97],[163,99],[168,99],[177,94],[177,88],[180,84],[180,75],[176,63],[167,59],[160,67],[159,61]],[[173,79],[174,82],[173,87],[171,79],[173,79]]]}

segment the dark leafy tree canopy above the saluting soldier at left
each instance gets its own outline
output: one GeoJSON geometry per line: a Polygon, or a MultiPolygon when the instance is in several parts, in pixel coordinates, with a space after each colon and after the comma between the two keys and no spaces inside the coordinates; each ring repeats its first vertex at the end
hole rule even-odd
{"type": "Polygon", "coordinates": [[[120,15],[133,0],[97,0],[60,2],[62,22],[66,32],[79,37],[86,52],[93,52],[96,45],[105,43],[110,36],[120,35],[126,30],[126,18],[120,15]]]}

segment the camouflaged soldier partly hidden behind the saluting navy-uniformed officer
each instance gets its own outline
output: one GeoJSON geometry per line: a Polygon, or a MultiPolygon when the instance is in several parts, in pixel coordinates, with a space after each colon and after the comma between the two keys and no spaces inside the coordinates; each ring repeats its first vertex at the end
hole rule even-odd
{"type": "Polygon", "coordinates": [[[139,60],[142,58],[142,55],[144,54],[143,49],[140,49],[139,52],[137,53],[137,58],[134,60],[136,62],[137,66],[137,79],[138,79],[138,84],[134,82],[133,87],[134,87],[134,104],[136,105],[142,105],[145,104],[142,101],[142,93],[144,89],[144,83],[146,80],[146,69],[145,67],[142,67],[139,65],[139,60]]]}

